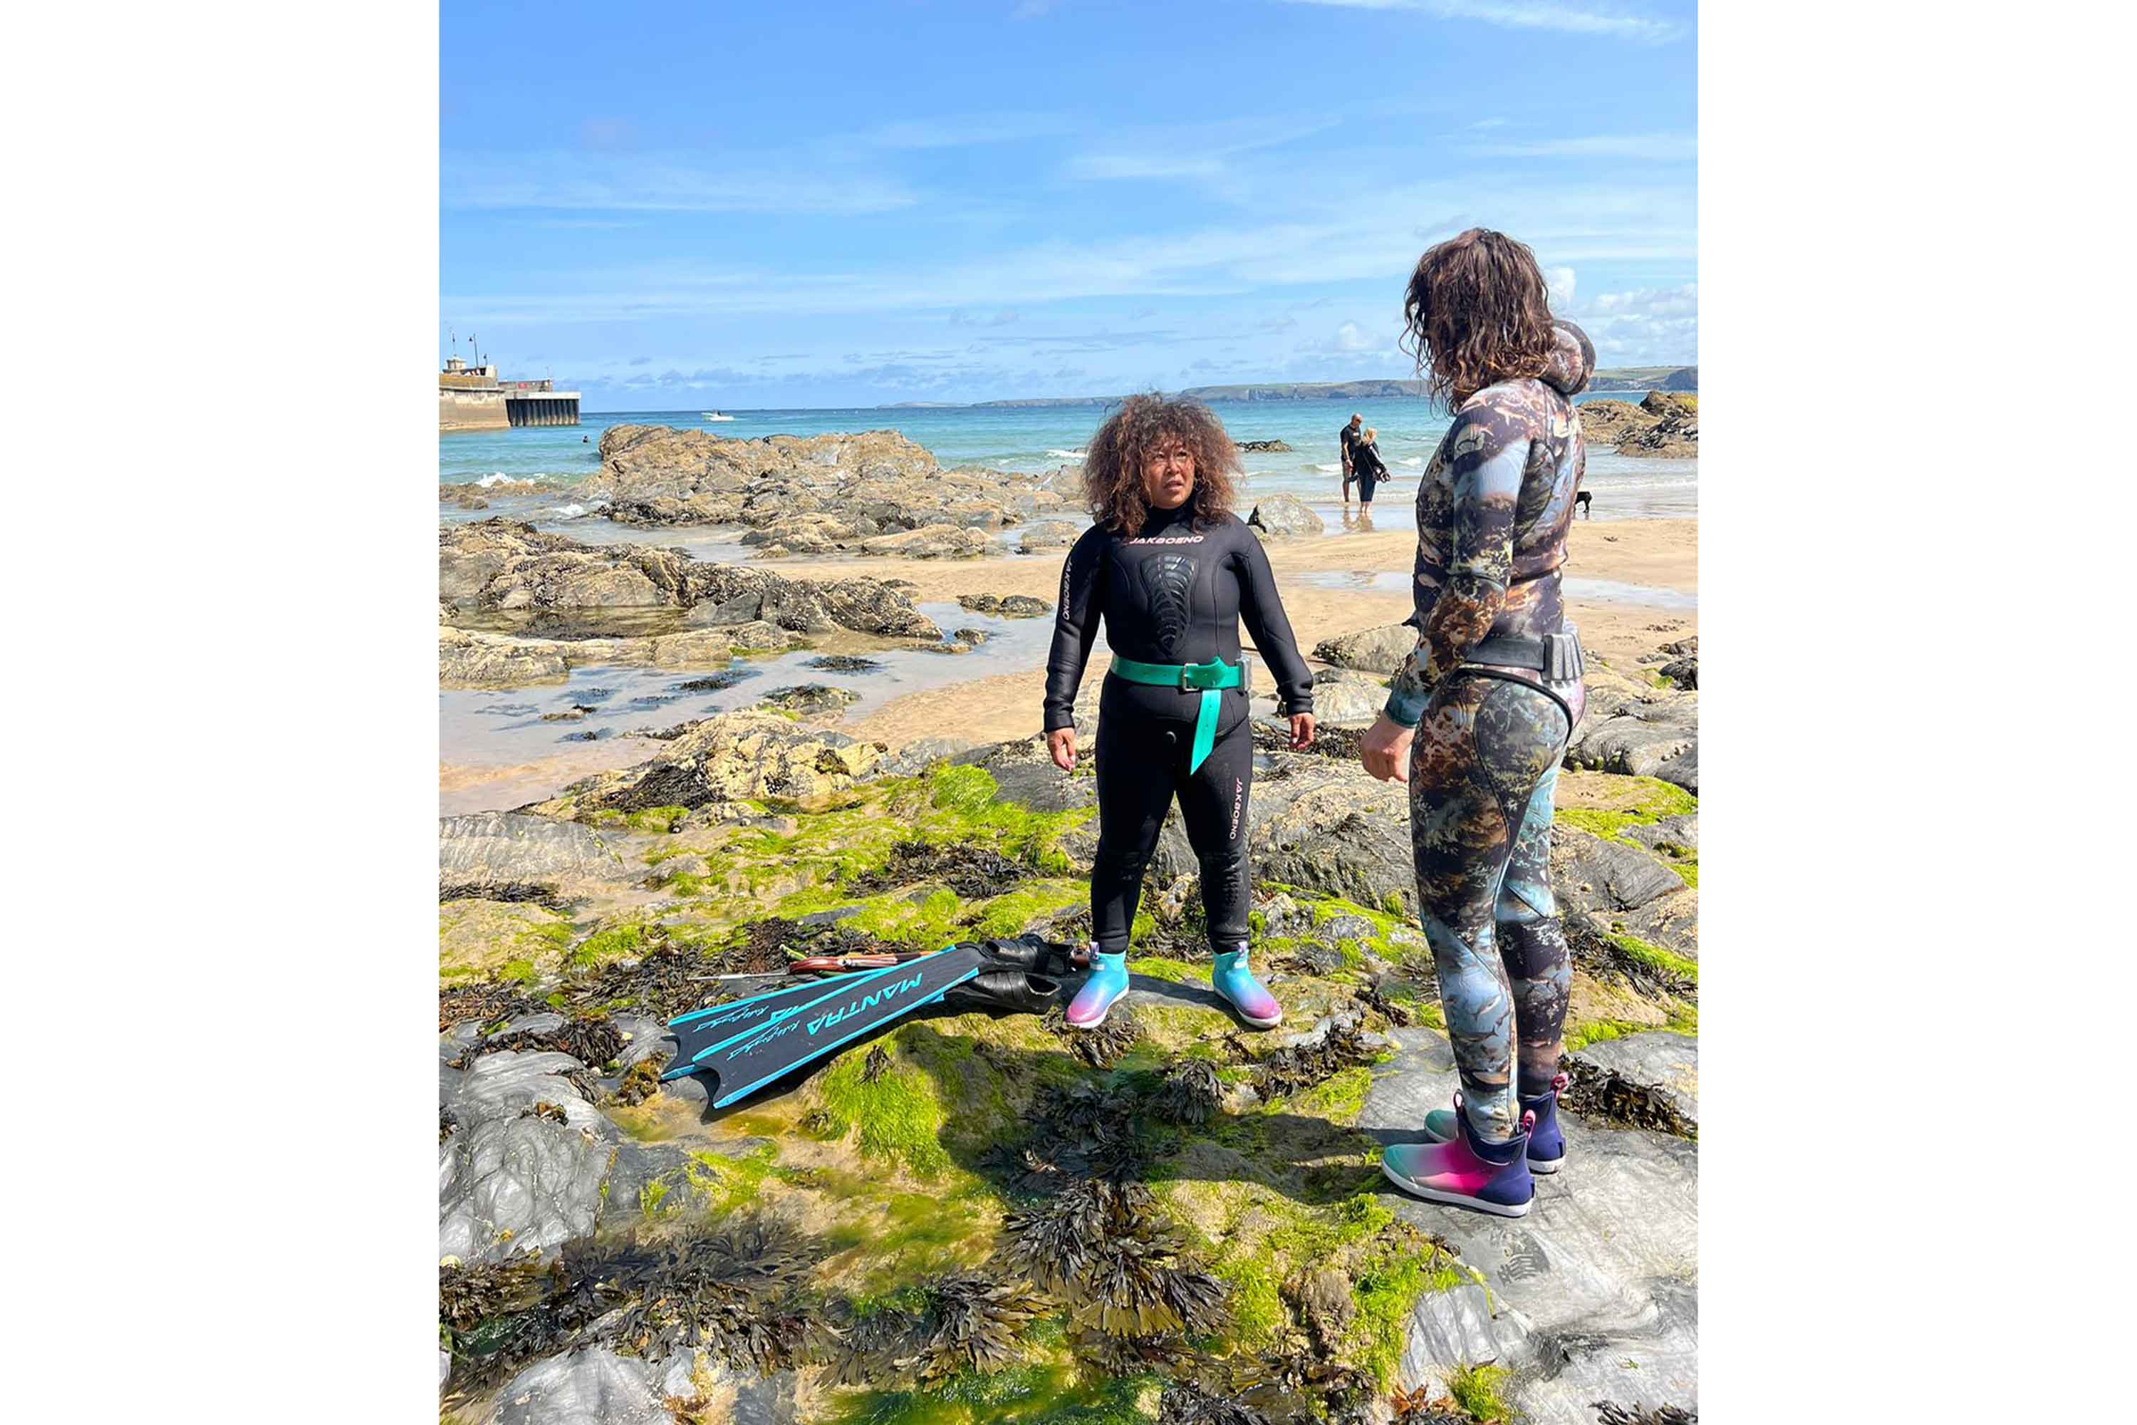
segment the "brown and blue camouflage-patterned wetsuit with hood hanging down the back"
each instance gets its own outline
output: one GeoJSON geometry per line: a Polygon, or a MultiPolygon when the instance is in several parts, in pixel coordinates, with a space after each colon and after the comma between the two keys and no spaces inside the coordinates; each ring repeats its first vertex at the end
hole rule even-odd
{"type": "Polygon", "coordinates": [[[1573,970],[1551,899],[1551,797],[1579,679],[1472,658],[1481,639],[1564,630],[1560,566],[1586,468],[1571,397],[1594,346],[1558,323],[1539,380],[1462,402],[1417,489],[1417,649],[1387,716],[1410,746],[1417,910],[1438,968],[1447,1038],[1479,1137],[1517,1132],[1519,1092],[1549,1090],[1573,970]]]}

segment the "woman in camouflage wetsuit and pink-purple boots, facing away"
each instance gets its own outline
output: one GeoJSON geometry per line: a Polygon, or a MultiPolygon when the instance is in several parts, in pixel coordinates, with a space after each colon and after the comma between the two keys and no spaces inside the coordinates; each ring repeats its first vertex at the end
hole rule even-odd
{"type": "Polygon", "coordinates": [[[1410,784],[1417,910],[1462,1092],[1406,1192],[1522,1216],[1564,1160],[1560,1032],[1573,972],[1551,899],[1551,797],[1584,694],[1560,566],[1586,453],[1571,397],[1594,346],[1554,323],[1530,250],[1470,229],[1430,252],[1404,316],[1455,412],[1417,489],[1417,649],[1359,746],[1410,784]]]}

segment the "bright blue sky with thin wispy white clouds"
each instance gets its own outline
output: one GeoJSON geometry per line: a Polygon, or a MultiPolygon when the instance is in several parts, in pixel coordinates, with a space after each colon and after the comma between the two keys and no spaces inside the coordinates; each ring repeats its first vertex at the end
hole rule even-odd
{"type": "Polygon", "coordinates": [[[1410,376],[1472,224],[1699,359],[1690,2],[455,0],[440,126],[440,353],[590,410],[1410,376]]]}

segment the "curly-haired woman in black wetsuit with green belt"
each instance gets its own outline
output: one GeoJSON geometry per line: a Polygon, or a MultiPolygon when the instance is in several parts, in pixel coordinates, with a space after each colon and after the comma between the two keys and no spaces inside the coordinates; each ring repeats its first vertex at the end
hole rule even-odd
{"type": "Polygon", "coordinates": [[[1128,397],[1083,459],[1094,523],[1062,564],[1047,660],[1047,750],[1075,769],[1071,707],[1105,620],[1113,662],[1098,696],[1098,855],[1090,874],[1092,974],[1068,1006],[1088,1030],[1128,989],[1128,927],[1143,867],[1180,797],[1201,863],[1212,985],[1254,1028],[1282,1008],[1246,964],[1246,799],[1254,780],[1239,620],[1276,675],[1291,746],[1314,739],[1314,679],[1291,639],[1269,558],[1231,513],[1239,451],[1207,406],[1128,397]]]}

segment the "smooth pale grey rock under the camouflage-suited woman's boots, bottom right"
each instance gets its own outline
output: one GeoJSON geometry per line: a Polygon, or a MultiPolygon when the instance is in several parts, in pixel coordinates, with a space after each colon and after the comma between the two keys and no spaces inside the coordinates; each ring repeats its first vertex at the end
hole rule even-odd
{"type": "MultiPolygon", "coordinates": [[[[1425,1113],[1451,1105],[1457,1079],[1438,1032],[1393,1038],[1402,1051],[1374,1068],[1359,1128],[1413,1143],[1425,1113]]],[[[1539,1425],[1592,1425],[1596,1399],[1697,1408],[1699,1147],[1575,1113],[1562,1124],[1566,1166],[1537,1179],[1526,1218],[1381,1190],[1383,1205],[1445,1237],[1489,1286],[1489,1307],[1462,1288],[1419,1303],[1404,1384],[1440,1387],[1449,1367],[1496,1359],[1515,1372],[1509,1399],[1539,1425]]]]}

